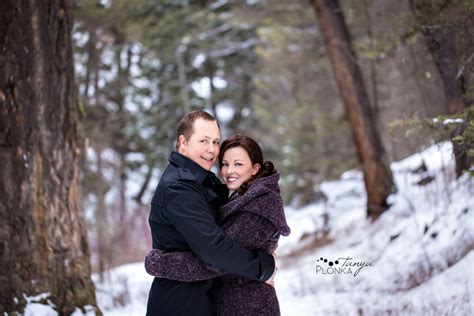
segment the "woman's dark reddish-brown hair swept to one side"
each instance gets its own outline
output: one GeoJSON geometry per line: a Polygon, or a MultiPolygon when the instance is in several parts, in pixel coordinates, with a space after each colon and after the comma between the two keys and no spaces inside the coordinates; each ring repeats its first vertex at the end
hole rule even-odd
{"type": "Polygon", "coordinates": [[[221,168],[222,168],[222,158],[224,157],[224,153],[227,151],[227,149],[234,148],[234,147],[242,147],[243,149],[245,149],[245,151],[250,157],[252,166],[255,164],[260,165],[260,169],[258,170],[258,172],[252,177],[250,177],[250,179],[242,183],[240,188],[236,190],[238,193],[243,194],[245,191],[247,191],[252,181],[263,178],[263,177],[267,177],[276,172],[275,167],[273,166],[273,163],[271,161],[263,160],[263,153],[262,153],[262,148],[260,148],[260,145],[256,141],[254,141],[252,138],[246,135],[242,135],[242,134],[232,135],[229,138],[227,138],[224,142],[222,142],[221,149],[219,152],[219,166],[221,168]]]}

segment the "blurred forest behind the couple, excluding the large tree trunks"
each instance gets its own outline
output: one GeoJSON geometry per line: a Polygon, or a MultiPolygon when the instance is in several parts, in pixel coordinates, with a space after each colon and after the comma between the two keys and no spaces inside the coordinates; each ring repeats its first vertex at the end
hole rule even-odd
{"type": "MultiPolygon", "coordinates": [[[[474,3],[340,5],[387,159],[449,138],[456,124],[433,122],[449,112],[424,32],[451,37],[455,55],[444,58],[458,70],[468,107],[474,3]]],[[[84,207],[95,269],[140,260],[150,247],[150,194],[174,146],[174,127],[189,110],[215,115],[223,138],[240,132],[257,139],[281,171],[287,204],[323,199],[319,183],[360,168],[308,1],[82,1],[75,15],[88,141],[84,207]]]]}

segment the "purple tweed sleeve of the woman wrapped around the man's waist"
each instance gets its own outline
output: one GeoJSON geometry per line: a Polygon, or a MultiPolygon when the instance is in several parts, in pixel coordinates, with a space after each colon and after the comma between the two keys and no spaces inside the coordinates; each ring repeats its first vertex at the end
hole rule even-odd
{"type": "Polygon", "coordinates": [[[145,270],[152,276],[181,282],[203,281],[224,274],[205,264],[192,252],[163,253],[158,249],[146,255],[145,270]]]}

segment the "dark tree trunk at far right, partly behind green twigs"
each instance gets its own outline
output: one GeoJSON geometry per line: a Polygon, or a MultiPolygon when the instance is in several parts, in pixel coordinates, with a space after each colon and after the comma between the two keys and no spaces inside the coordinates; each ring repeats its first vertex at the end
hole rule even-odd
{"type": "MultiPolygon", "coordinates": [[[[426,46],[433,57],[443,82],[443,91],[446,97],[447,114],[456,114],[464,109],[465,79],[461,74],[457,77],[459,65],[456,49],[456,32],[453,26],[437,23],[436,17],[450,4],[450,1],[410,0],[412,11],[421,23],[421,30],[426,46]]],[[[453,143],[453,155],[456,161],[456,175],[459,177],[465,170],[469,170],[470,163],[467,155],[467,146],[456,141],[456,136],[462,134],[467,122],[455,129],[450,137],[453,143]]]]}

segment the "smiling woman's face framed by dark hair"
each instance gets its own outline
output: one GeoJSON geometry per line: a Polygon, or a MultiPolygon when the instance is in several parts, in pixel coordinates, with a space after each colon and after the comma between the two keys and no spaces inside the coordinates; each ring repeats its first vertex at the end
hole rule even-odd
{"type": "Polygon", "coordinates": [[[232,147],[224,152],[221,174],[229,190],[237,190],[242,183],[257,174],[259,164],[252,165],[247,151],[242,147],[232,147]]]}

